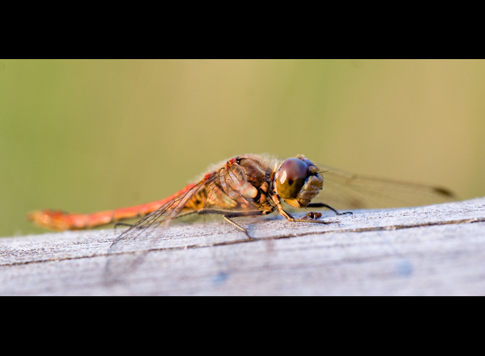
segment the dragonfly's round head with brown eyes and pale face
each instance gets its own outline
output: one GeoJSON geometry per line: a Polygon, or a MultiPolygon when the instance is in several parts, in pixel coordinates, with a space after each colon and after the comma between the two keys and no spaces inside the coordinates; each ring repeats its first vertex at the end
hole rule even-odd
{"type": "Polygon", "coordinates": [[[294,208],[310,204],[323,189],[318,167],[304,155],[288,158],[275,174],[276,193],[294,208]]]}

